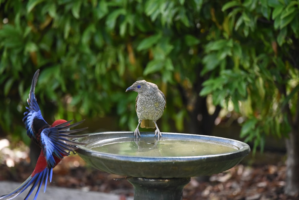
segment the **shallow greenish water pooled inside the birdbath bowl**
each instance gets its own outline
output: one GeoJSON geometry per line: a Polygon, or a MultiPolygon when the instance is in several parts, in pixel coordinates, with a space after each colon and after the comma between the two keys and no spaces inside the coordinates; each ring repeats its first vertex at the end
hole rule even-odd
{"type": "Polygon", "coordinates": [[[142,157],[187,157],[229,153],[236,146],[206,140],[173,140],[163,137],[113,138],[89,144],[93,151],[142,157]]]}

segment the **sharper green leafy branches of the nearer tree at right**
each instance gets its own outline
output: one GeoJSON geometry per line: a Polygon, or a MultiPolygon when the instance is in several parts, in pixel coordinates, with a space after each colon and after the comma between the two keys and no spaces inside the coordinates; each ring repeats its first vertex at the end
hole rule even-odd
{"type": "MultiPolygon", "coordinates": [[[[212,72],[201,95],[214,104],[232,101],[248,119],[241,137],[265,143],[287,136],[298,123],[299,2],[229,1],[219,31],[205,46],[202,74],[212,72]],[[223,101],[225,99],[225,101],[223,101]]],[[[254,148],[255,150],[255,148],[254,148]]]]}

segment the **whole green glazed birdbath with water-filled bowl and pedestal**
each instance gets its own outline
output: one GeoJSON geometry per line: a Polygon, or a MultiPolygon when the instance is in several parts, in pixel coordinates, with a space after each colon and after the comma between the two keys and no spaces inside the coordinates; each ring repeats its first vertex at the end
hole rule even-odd
{"type": "Polygon", "coordinates": [[[223,137],[141,132],[100,132],[77,138],[77,153],[100,171],[126,176],[134,200],[182,199],[190,177],[212,175],[237,165],[250,152],[243,142],[223,137]]]}

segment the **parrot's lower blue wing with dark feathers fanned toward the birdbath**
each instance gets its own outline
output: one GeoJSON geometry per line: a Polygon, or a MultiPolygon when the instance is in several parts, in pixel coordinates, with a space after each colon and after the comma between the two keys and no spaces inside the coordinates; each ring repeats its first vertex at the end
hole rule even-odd
{"type": "MultiPolygon", "coordinates": [[[[72,121],[72,120],[71,120],[72,121]]],[[[63,125],[68,124],[70,121],[63,123],[63,125]]],[[[74,123],[72,125],[62,126],[57,125],[51,128],[45,128],[42,130],[41,136],[41,144],[42,151],[45,155],[45,159],[47,161],[47,166],[53,168],[55,166],[55,157],[62,159],[64,156],[68,156],[70,151],[74,153],[77,149],[75,145],[82,144],[69,140],[72,137],[80,137],[80,136],[70,136],[68,134],[76,133],[79,131],[83,131],[86,128],[76,129],[76,130],[68,130],[75,125],[80,124],[81,122],[74,123]]]]}

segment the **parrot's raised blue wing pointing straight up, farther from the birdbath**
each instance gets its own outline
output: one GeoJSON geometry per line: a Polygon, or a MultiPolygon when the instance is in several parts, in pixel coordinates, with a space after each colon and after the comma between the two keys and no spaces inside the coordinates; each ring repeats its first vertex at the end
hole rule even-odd
{"type": "Polygon", "coordinates": [[[27,99],[29,106],[26,107],[27,111],[24,113],[25,117],[23,118],[23,122],[25,123],[27,129],[27,135],[30,138],[33,137],[34,142],[37,142],[36,135],[41,128],[50,127],[50,125],[48,125],[48,123],[42,117],[42,113],[39,109],[39,105],[36,102],[34,94],[38,75],[39,69],[35,72],[32,79],[29,98],[27,99]]]}

